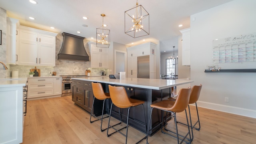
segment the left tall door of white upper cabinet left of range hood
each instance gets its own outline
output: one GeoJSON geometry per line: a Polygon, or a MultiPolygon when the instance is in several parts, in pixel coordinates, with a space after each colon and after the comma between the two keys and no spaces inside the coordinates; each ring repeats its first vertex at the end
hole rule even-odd
{"type": "Polygon", "coordinates": [[[36,65],[38,62],[38,45],[36,42],[20,41],[18,63],[36,65]]]}

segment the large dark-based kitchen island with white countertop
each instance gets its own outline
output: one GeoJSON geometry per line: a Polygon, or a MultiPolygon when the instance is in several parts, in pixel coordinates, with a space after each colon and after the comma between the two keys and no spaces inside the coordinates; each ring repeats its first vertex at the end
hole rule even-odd
{"type": "MultiPolygon", "coordinates": [[[[161,80],[161,79],[146,79],[146,78],[126,78],[126,79],[110,79],[108,77],[86,77],[86,78],[72,78],[73,94],[72,100],[78,106],[84,107],[85,110],[90,112],[92,107],[93,94],[91,90],[90,83],[98,82],[101,83],[105,92],[108,92],[108,85],[112,86],[124,86],[129,97],[145,101],[144,110],[146,115],[147,125],[150,125],[152,129],[149,134],[152,135],[160,128],[161,112],[159,110],[153,110],[152,122],[150,120],[151,107],[150,104],[159,102],[161,100],[167,99],[171,96],[171,87],[179,86],[182,84],[192,83],[192,80],[161,80]],[[90,87],[90,88],[88,88],[90,87]],[[88,108],[88,109],[86,109],[88,108]]],[[[102,104],[94,106],[98,109],[94,109],[94,114],[100,112],[102,104]]],[[[110,103],[106,106],[106,113],[110,109],[110,103]]],[[[112,108],[114,117],[118,118],[118,108],[112,108]]],[[[122,110],[122,121],[126,122],[127,111],[122,110]]],[[[164,114],[165,115],[165,114],[164,114]]],[[[146,129],[142,125],[144,123],[144,114],[141,107],[132,108],[130,110],[129,124],[134,128],[146,133],[146,129]]]]}

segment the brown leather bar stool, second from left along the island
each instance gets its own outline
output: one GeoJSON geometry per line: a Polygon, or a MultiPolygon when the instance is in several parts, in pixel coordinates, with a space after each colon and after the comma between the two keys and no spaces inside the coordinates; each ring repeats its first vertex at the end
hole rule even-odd
{"type": "MultiPolygon", "coordinates": [[[[145,111],[144,111],[144,106],[143,106],[144,101],[129,98],[127,93],[126,93],[125,88],[122,87],[122,86],[110,86],[109,85],[108,87],[109,87],[110,97],[111,97],[111,100],[112,100],[112,104],[111,104],[111,108],[110,108],[110,116],[109,116],[109,120],[108,120],[108,128],[113,128],[115,130],[115,132],[113,132],[111,134],[119,132],[120,134],[125,136],[126,137],[125,143],[127,144],[128,123],[129,123],[128,120],[129,120],[130,108],[142,105],[143,112],[144,112],[144,118],[145,118],[145,124],[144,125],[145,125],[145,128],[147,130],[146,117],[145,117],[145,111]],[[128,108],[128,111],[127,111],[127,123],[126,123],[126,126],[124,127],[124,128],[126,128],[126,134],[123,134],[122,132],[120,132],[120,130],[122,130],[124,128],[121,128],[121,129],[117,130],[113,126],[109,125],[113,104],[116,107],[118,107],[118,108],[128,108]]],[[[108,130],[107,130],[107,136],[111,136],[111,134],[108,134],[108,130]]],[[[145,138],[146,138],[146,136],[144,138],[142,138],[140,141],[138,141],[136,144],[138,144],[139,142],[141,142],[145,138]]]]}

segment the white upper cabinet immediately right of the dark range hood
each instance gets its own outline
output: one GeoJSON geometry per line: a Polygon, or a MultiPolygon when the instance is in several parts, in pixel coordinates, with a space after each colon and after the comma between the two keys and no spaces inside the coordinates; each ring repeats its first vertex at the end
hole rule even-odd
{"type": "Polygon", "coordinates": [[[108,68],[108,48],[96,47],[95,42],[88,42],[90,49],[91,67],[108,68]]]}

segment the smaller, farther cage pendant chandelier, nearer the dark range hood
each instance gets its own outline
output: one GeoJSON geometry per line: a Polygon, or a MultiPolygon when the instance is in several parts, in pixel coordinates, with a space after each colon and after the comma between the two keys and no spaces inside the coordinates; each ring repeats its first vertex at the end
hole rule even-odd
{"type": "Polygon", "coordinates": [[[104,25],[105,14],[100,14],[102,16],[102,26],[96,28],[96,46],[101,48],[109,48],[110,46],[110,30],[104,25]]]}

